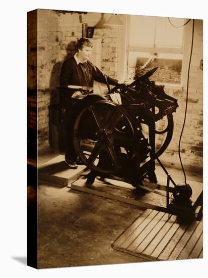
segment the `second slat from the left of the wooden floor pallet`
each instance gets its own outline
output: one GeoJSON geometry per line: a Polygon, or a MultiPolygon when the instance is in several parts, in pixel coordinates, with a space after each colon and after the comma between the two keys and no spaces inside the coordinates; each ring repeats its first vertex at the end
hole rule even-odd
{"type": "Polygon", "coordinates": [[[146,228],[146,226],[152,221],[152,219],[158,214],[159,212],[153,210],[152,213],[145,218],[145,220],[133,231],[133,233],[121,244],[121,248],[126,249],[146,228]]]}

